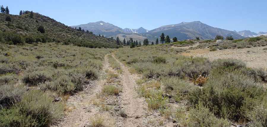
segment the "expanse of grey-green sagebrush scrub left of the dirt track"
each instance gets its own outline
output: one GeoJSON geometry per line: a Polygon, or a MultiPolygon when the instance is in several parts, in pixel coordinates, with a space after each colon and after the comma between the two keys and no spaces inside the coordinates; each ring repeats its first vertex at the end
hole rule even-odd
{"type": "Polygon", "coordinates": [[[41,127],[62,118],[66,100],[54,99],[97,79],[112,49],[38,43],[2,44],[0,52],[0,126],[41,127]]]}

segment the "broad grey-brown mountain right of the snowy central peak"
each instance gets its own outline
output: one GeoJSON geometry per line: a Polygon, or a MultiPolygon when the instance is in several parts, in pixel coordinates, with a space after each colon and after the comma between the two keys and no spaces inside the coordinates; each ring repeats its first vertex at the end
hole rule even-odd
{"type": "Polygon", "coordinates": [[[169,35],[171,38],[177,37],[178,40],[195,39],[196,37],[201,39],[214,39],[216,35],[224,37],[233,36],[234,39],[244,38],[233,31],[214,28],[200,21],[181,22],[179,24],[161,26],[160,28],[150,30],[147,34],[144,34],[144,36],[148,37],[150,40],[155,40],[155,38],[160,37],[161,33],[169,35]]]}

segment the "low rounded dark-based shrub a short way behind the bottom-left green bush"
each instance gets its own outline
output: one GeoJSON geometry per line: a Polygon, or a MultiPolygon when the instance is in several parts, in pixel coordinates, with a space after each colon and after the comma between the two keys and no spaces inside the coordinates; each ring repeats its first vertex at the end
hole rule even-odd
{"type": "Polygon", "coordinates": [[[50,81],[52,75],[46,71],[34,71],[32,73],[26,73],[23,77],[23,82],[29,86],[35,86],[45,81],[50,81]]]}

